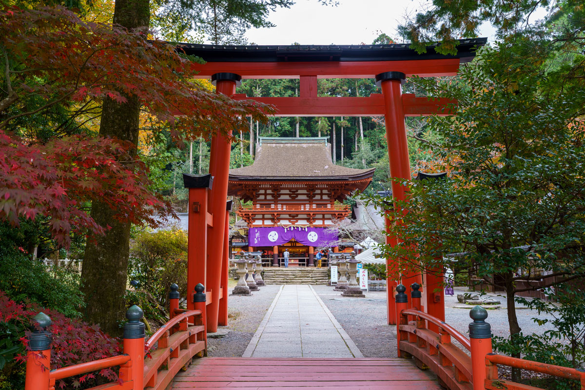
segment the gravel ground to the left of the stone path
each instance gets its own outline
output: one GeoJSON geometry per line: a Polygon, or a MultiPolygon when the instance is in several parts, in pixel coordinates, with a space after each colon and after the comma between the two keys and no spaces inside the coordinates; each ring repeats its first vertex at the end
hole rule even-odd
{"type": "Polygon", "coordinates": [[[252,292],[252,296],[230,295],[228,326],[218,329],[230,332],[221,339],[208,337],[208,356],[242,356],[279,289],[280,285],[266,285],[252,292]]]}

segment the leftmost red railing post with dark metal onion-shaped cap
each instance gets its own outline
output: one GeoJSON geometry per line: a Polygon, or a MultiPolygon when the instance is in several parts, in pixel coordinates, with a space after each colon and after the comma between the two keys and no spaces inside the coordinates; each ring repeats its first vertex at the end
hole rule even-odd
{"type": "Polygon", "coordinates": [[[25,390],[49,390],[51,339],[46,328],[51,325],[51,319],[43,312],[33,319],[40,329],[27,337],[30,351],[26,354],[25,390]]]}

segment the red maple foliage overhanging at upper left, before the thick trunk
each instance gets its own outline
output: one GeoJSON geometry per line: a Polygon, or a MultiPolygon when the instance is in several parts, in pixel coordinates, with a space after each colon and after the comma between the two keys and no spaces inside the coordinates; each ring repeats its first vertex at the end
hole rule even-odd
{"type": "Polygon", "coordinates": [[[107,228],[91,219],[92,201],[108,204],[115,218],[150,225],[154,215],[172,210],[149,191],[146,167],[128,144],[64,136],[55,123],[47,124],[54,132],[47,142],[20,129],[20,121],[62,107],[68,123],[85,123],[106,96],[125,102],[136,95],[152,122],[168,127],[181,144],[238,133],[247,129],[247,115],[264,120],[260,108],[270,112],[202,88],[190,79],[191,61],[170,44],[85,22],[65,8],[5,8],[0,47],[7,60],[0,70],[6,81],[0,90],[0,220],[18,225],[19,218],[47,216],[51,234],[66,247],[71,232],[107,228]]]}

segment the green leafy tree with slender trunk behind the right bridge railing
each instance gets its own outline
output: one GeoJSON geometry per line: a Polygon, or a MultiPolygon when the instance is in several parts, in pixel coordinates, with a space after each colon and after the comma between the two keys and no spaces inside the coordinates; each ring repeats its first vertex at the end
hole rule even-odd
{"type": "Polygon", "coordinates": [[[542,72],[545,53],[545,45],[497,44],[458,82],[421,80],[459,102],[455,116],[429,120],[442,138],[433,151],[452,174],[412,184],[394,232],[404,243],[387,249],[411,269],[415,249],[431,271],[443,253],[466,251],[468,266],[507,293],[512,341],[521,332],[514,295],[538,288],[538,272],[558,278],[549,285],[585,276],[585,91],[550,83],[559,75],[542,72]]]}

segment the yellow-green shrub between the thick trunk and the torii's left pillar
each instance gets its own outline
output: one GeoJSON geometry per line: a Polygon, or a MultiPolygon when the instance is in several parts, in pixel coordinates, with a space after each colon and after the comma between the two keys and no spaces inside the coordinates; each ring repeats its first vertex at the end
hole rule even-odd
{"type": "Polygon", "coordinates": [[[187,234],[171,229],[137,234],[130,246],[128,278],[137,290],[151,294],[168,308],[170,285],[187,296],[187,234]]]}

